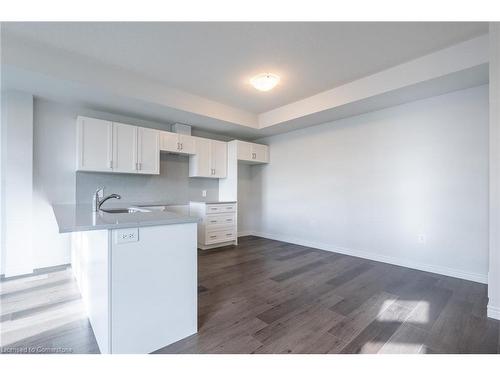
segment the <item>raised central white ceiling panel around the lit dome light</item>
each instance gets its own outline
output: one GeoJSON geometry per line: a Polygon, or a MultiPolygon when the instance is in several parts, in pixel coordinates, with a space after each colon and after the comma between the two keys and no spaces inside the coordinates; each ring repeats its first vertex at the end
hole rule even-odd
{"type": "Polygon", "coordinates": [[[488,32],[487,23],[7,23],[2,31],[261,113],[488,32]],[[267,93],[248,85],[271,71],[267,93]]]}

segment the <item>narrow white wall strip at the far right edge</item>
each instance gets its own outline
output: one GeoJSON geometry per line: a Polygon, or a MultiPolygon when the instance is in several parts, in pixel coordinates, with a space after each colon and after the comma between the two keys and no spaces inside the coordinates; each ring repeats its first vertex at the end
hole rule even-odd
{"type": "Polygon", "coordinates": [[[490,263],[488,316],[500,319],[500,23],[490,23],[490,263]]]}

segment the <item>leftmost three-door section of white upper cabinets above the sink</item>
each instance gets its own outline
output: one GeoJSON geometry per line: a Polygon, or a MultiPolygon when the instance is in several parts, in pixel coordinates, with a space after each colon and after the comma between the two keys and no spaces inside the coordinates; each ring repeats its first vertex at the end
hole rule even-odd
{"type": "Polygon", "coordinates": [[[158,130],[88,117],[77,128],[77,170],[160,174],[158,130]]]}

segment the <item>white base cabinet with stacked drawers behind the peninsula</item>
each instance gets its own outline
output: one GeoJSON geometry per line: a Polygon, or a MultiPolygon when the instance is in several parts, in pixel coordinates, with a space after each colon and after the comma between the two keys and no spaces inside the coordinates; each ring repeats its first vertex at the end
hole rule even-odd
{"type": "Polygon", "coordinates": [[[190,202],[189,214],[201,219],[198,224],[200,249],[237,244],[236,202],[190,202]]]}

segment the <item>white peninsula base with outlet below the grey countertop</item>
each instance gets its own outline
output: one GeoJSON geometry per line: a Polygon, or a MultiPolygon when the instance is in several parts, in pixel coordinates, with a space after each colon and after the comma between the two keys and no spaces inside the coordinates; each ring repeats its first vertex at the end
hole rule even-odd
{"type": "Polygon", "coordinates": [[[101,353],[151,353],[197,332],[196,223],[72,234],[101,353]]]}

